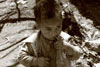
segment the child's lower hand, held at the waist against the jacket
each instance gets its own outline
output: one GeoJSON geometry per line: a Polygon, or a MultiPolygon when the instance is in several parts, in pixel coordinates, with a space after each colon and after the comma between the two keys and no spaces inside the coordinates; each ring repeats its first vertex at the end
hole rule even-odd
{"type": "Polygon", "coordinates": [[[49,58],[40,57],[37,61],[39,67],[48,67],[49,65],[49,58]]]}

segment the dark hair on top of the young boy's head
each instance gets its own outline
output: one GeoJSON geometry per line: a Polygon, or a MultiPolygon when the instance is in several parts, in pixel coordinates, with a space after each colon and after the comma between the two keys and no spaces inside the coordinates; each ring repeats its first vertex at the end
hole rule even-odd
{"type": "Polygon", "coordinates": [[[36,0],[36,6],[34,8],[34,15],[37,20],[41,20],[41,15],[46,19],[55,16],[57,10],[57,3],[55,0],[36,0]]]}

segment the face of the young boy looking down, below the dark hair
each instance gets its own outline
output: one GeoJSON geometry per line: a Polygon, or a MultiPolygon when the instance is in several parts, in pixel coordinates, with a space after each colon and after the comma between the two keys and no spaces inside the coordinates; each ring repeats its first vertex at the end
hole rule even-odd
{"type": "Polygon", "coordinates": [[[49,40],[54,40],[59,36],[62,30],[62,19],[52,18],[47,20],[42,20],[39,25],[41,33],[43,36],[49,40]]]}

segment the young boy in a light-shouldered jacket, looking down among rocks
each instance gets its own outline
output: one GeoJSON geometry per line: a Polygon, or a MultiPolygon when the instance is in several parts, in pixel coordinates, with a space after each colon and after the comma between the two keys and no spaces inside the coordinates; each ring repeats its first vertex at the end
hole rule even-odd
{"type": "Polygon", "coordinates": [[[40,0],[34,9],[38,31],[23,41],[19,62],[26,67],[71,67],[80,57],[74,46],[63,40],[62,18],[57,2],[40,0]]]}

